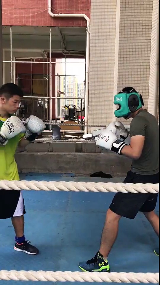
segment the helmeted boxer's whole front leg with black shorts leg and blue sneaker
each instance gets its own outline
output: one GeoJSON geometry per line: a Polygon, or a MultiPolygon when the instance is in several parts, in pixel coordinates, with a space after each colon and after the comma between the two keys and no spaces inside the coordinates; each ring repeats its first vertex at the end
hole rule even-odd
{"type": "Polygon", "coordinates": [[[106,215],[100,250],[94,258],[80,262],[79,267],[89,272],[109,272],[108,254],[116,240],[121,217],[134,219],[146,200],[146,194],[116,193],[106,215]]]}

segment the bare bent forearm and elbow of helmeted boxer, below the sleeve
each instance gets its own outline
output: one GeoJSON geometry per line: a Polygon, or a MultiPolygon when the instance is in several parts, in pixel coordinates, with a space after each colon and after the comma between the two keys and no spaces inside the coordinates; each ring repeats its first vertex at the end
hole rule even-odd
{"type": "Polygon", "coordinates": [[[130,145],[125,145],[121,154],[132,159],[139,159],[143,151],[144,141],[145,137],[142,135],[131,137],[130,145]]]}

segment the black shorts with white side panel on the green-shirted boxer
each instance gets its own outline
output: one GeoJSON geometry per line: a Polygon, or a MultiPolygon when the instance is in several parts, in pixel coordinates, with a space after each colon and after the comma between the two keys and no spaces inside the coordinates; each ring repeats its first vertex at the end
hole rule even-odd
{"type": "Polygon", "coordinates": [[[22,191],[0,190],[0,220],[25,214],[22,191]]]}

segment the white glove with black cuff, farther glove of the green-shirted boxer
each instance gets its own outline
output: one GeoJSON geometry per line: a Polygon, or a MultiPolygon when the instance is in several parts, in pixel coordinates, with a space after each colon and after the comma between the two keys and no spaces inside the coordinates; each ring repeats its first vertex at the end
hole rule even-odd
{"type": "Polygon", "coordinates": [[[29,142],[32,142],[36,139],[36,137],[44,131],[46,125],[44,122],[36,117],[31,115],[28,119],[26,119],[25,123],[26,133],[25,133],[25,139],[29,142]]]}

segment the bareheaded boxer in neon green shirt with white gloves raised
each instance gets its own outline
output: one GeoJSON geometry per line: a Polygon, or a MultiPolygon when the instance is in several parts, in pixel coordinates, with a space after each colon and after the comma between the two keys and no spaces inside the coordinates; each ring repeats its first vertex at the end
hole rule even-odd
{"type": "MultiPolygon", "coordinates": [[[[0,180],[20,180],[15,162],[16,148],[25,147],[45,129],[45,124],[35,116],[30,116],[23,124],[13,115],[22,97],[23,91],[13,83],[0,87],[0,180]]],[[[1,189],[0,219],[12,219],[16,234],[14,249],[35,255],[39,250],[25,240],[24,214],[22,191],[1,189]]]]}

